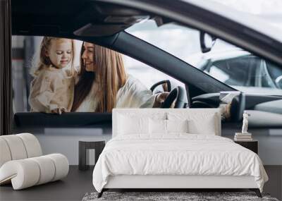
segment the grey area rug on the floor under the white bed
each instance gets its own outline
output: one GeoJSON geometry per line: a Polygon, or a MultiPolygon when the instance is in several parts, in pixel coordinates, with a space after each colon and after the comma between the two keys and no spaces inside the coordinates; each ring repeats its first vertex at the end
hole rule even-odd
{"type": "Polygon", "coordinates": [[[188,200],[188,201],[205,201],[205,200],[267,200],[278,201],[269,194],[262,194],[259,198],[254,192],[104,192],[102,197],[97,198],[98,193],[86,193],[82,201],[103,201],[103,200],[188,200]]]}

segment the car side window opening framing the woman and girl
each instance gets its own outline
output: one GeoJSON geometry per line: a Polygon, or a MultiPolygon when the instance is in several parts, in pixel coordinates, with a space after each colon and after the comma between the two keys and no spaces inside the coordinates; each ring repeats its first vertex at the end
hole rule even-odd
{"type": "Polygon", "coordinates": [[[159,107],[156,97],[166,89],[160,85],[151,91],[152,85],[169,80],[172,89],[185,88],[178,80],[129,56],[88,45],[73,39],[13,36],[14,113],[159,107]]]}

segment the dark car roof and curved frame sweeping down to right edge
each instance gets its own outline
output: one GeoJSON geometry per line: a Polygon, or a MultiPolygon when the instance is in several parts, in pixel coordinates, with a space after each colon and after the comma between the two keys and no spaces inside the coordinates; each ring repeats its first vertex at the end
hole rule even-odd
{"type": "MultiPolygon", "coordinates": [[[[229,20],[223,14],[222,17],[216,12],[207,11],[206,13],[203,5],[203,7],[192,5],[200,5],[199,2],[191,0],[188,4],[177,0],[173,2],[162,0],[14,0],[11,7],[12,33],[13,35],[68,37],[115,49],[114,43],[122,30],[140,20],[161,16],[159,17],[160,24],[176,21],[191,28],[204,30],[281,65],[282,34],[280,37],[277,35],[279,40],[274,39],[271,33],[263,35],[229,20]]],[[[118,51],[118,48],[115,50],[118,51]]]]}

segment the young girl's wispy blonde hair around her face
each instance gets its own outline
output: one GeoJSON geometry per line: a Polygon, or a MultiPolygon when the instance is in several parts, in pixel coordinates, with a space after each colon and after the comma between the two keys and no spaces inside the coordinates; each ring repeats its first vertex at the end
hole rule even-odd
{"type": "Polygon", "coordinates": [[[60,38],[60,37],[43,37],[42,42],[40,44],[39,55],[35,56],[35,65],[30,70],[30,74],[33,77],[39,75],[40,71],[46,66],[50,66],[52,63],[49,59],[49,56],[46,56],[46,51],[49,51],[49,47],[51,46],[52,41],[60,41],[60,40],[69,40],[71,42],[71,72],[68,73],[71,76],[75,74],[74,68],[74,56],[75,56],[75,42],[73,39],[68,38],[60,38]],[[37,58],[36,58],[37,57],[37,58]]]}

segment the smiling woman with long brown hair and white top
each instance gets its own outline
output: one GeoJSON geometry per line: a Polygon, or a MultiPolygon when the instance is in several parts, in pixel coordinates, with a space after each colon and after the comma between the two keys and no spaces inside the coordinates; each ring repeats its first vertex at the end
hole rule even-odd
{"type": "Polygon", "coordinates": [[[111,112],[113,108],[153,107],[161,101],[139,80],[127,75],[122,55],[83,42],[80,77],[75,85],[72,111],[111,112]]]}

